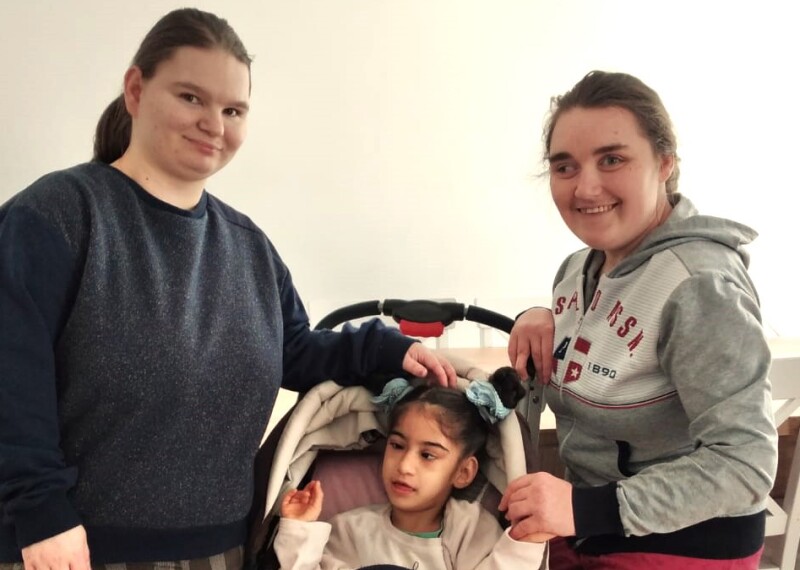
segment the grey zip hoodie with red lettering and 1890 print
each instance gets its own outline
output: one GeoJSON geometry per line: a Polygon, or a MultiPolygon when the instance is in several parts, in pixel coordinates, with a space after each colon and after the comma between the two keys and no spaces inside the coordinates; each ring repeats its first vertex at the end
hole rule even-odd
{"type": "Polygon", "coordinates": [[[763,541],[777,466],[770,353],[742,249],[756,233],[700,216],[678,194],[670,200],[668,220],[607,275],[598,251],[562,265],[546,398],[579,538],[620,537],[583,542],[603,552],[746,556],[763,541]],[[737,530],[720,530],[722,519],[737,530]],[[692,529],[711,551],[681,551],[692,529]],[[714,529],[719,549],[709,544],[714,529]],[[652,539],[678,531],[670,545],[652,539]],[[650,546],[622,535],[651,536],[650,546]]]}

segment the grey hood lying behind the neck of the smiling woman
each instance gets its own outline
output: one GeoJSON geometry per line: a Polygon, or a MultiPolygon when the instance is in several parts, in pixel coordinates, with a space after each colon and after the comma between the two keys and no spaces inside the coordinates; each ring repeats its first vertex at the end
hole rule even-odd
{"type": "Polygon", "coordinates": [[[609,272],[609,277],[630,273],[660,251],[700,240],[730,248],[739,255],[745,268],[748,267],[750,256],[744,246],[758,236],[754,229],[733,220],[700,215],[691,200],[681,194],[670,194],[668,199],[672,212],[667,220],[609,272]]]}

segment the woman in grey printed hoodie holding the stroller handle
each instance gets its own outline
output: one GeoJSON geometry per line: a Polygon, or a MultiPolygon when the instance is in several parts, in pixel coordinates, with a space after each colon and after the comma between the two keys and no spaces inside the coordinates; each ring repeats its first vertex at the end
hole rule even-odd
{"type": "Polygon", "coordinates": [[[587,247],[511,333],[566,465],[566,480],[509,486],[512,537],[569,537],[556,570],[757,568],[777,434],[742,249],[756,233],[677,192],[669,115],[635,77],[586,75],[553,100],[544,139],[553,200],[587,247]]]}

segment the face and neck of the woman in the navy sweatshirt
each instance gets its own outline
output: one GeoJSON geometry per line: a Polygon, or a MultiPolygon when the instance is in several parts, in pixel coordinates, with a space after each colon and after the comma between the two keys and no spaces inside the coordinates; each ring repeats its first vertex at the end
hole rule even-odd
{"type": "Polygon", "coordinates": [[[221,49],[178,48],[149,79],[132,67],[131,143],[117,166],[156,195],[190,188],[199,198],[244,142],[249,91],[247,65],[221,49]]]}

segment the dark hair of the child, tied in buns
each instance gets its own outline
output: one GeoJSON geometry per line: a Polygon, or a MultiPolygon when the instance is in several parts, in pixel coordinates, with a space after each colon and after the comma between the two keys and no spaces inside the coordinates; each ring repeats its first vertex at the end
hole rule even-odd
{"type": "MultiPolygon", "coordinates": [[[[461,390],[429,385],[422,380],[402,397],[389,415],[390,429],[394,429],[405,413],[415,406],[425,405],[439,424],[442,433],[463,446],[462,457],[480,452],[486,445],[489,423],[481,417],[478,407],[467,399],[461,390]]],[[[506,408],[515,408],[525,395],[522,380],[510,366],[498,368],[489,377],[497,395],[506,408]]]]}

